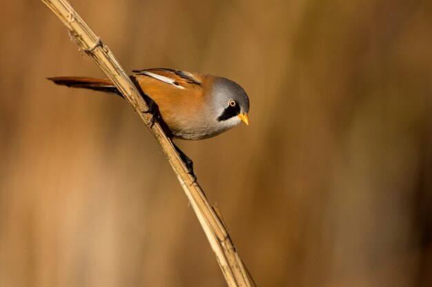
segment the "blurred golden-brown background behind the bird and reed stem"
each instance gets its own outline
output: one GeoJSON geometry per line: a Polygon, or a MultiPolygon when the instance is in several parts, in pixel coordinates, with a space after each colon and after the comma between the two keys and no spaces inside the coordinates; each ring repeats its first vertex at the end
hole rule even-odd
{"type": "MultiPolygon", "coordinates": [[[[71,1],[127,70],[222,75],[250,126],[178,141],[258,286],[432,286],[432,3],[71,1]]],[[[41,1],[1,1],[0,286],[224,286],[192,208],[41,1]]]]}

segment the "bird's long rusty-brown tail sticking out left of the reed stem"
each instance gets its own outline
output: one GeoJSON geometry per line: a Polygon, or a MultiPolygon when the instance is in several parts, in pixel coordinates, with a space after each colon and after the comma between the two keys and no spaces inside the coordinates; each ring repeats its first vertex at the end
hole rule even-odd
{"type": "Polygon", "coordinates": [[[48,78],[48,80],[61,86],[99,90],[101,92],[113,92],[121,96],[119,90],[117,90],[109,79],[89,77],[52,77],[48,78]]]}

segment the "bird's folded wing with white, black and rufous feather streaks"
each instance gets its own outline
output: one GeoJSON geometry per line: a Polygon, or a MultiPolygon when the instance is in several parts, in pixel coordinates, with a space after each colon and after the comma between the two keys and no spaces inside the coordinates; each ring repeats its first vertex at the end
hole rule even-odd
{"type": "Polygon", "coordinates": [[[202,80],[197,77],[197,73],[165,68],[133,70],[132,72],[136,72],[137,75],[152,77],[153,79],[163,81],[179,89],[192,88],[191,86],[202,86],[202,80]]]}

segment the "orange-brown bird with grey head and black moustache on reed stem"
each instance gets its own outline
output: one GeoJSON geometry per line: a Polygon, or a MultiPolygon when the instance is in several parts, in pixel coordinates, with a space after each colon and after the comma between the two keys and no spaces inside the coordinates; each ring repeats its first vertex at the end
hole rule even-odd
{"type": "MultiPolygon", "coordinates": [[[[150,68],[132,72],[135,74],[129,77],[148,105],[148,110],[142,112],[151,113],[151,123],[157,120],[170,139],[208,139],[242,122],[249,124],[249,98],[242,86],[235,81],[201,72],[170,68],[150,68]]],[[[122,96],[109,79],[48,79],[62,86],[122,96]]],[[[192,161],[177,146],[175,148],[195,177],[192,161]]]]}

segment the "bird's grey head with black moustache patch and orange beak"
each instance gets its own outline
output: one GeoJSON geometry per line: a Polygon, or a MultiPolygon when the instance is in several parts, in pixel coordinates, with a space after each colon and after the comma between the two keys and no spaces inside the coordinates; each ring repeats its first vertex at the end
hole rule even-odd
{"type": "Polygon", "coordinates": [[[221,126],[232,128],[248,121],[249,98],[235,81],[218,77],[213,85],[213,108],[221,126]]]}

